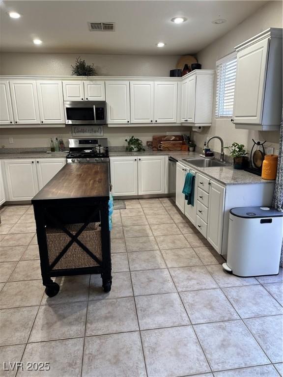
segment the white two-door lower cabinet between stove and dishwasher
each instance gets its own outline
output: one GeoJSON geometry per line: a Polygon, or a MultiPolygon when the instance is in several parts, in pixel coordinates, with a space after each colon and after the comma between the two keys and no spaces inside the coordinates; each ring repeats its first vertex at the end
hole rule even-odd
{"type": "Polygon", "coordinates": [[[111,157],[113,196],[166,193],[166,159],[167,156],[111,157]]]}

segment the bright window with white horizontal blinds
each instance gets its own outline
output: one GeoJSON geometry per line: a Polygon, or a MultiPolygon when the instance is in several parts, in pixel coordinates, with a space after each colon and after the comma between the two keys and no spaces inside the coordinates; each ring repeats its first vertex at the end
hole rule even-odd
{"type": "Polygon", "coordinates": [[[216,62],[216,118],[230,118],[233,115],[236,67],[235,53],[216,62]]]}

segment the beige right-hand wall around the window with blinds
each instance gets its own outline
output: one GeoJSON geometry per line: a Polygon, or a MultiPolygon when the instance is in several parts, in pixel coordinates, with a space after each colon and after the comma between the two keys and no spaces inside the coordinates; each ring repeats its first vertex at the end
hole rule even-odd
{"type": "MultiPolygon", "coordinates": [[[[215,69],[218,59],[232,53],[234,47],[239,43],[244,42],[269,27],[283,27],[281,1],[268,1],[266,5],[258,9],[252,16],[200,51],[198,53],[198,61],[202,64],[203,69],[215,69]]],[[[215,94],[213,111],[214,108],[215,94]]],[[[226,146],[236,141],[245,144],[249,151],[253,145],[252,138],[254,138],[255,141],[267,140],[268,142],[265,145],[275,146],[275,149],[278,149],[279,146],[278,131],[258,132],[236,130],[230,119],[215,119],[214,116],[211,127],[207,127],[200,134],[194,134],[198,146],[203,145],[206,137],[213,135],[221,136],[226,146]]],[[[210,146],[212,149],[215,148],[216,151],[220,151],[220,142],[218,140],[212,140],[210,146]]]]}

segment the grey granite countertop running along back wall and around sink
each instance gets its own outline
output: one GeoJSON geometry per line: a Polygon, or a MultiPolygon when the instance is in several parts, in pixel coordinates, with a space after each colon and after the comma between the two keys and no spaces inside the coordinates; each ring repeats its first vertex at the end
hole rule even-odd
{"type": "MultiPolygon", "coordinates": [[[[52,152],[47,153],[44,151],[36,152],[22,152],[22,153],[0,153],[0,160],[5,159],[41,159],[41,158],[65,158],[68,152],[52,152]]],[[[226,166],[220,167],[197,167],[189,162],[184,161],[184,159],[200,159],[199,153],[197,152],[185,152],[185,151],[152,151],[146,150],[143,152],[126,152],[126,151],[110,151],[110,157],[121,157],[121,156],[170,156],[185,165],[191,167],[194,171],[203,173],[208,177],[215,179],[224,185],[245,185],[245,184],[255,184],[255,183],[274,183],[274,181],[266,181],[260,176],[249,173],[244,170],[236,170],[227,163],[226,166]]]]}

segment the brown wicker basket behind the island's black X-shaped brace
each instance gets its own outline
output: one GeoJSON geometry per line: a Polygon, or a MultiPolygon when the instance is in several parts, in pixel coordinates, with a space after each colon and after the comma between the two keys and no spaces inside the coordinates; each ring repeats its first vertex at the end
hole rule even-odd
{"type": "MultiPolygon", "coordinates": [[[[84,224],[67,224],[65,225],[65,228],[75,235],[83,225],[84,224]]],[[[61,229],[51,227],[46,228],[46,238],[49,265],[51,265],[71,239],[61,229]]],[[[100,222],[89,223],[82,234],[78,237],[78,240],[81,241],[88,250],[102,262],[100,222]]],[[[92,259],[85,250],[77,244],[77,242],[73,242],[53,269],[76,269],[95,266],[99,266],[99,264],[92,259]]]]}

